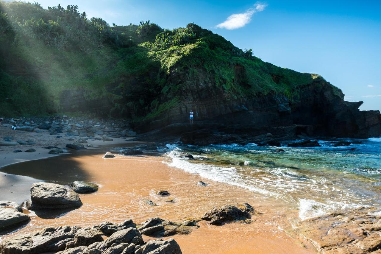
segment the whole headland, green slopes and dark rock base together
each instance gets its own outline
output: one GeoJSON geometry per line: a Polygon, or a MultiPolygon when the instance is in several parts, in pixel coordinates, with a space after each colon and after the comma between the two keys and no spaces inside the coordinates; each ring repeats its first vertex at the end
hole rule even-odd
{"type": "Polygon", "coordinates": [[[0,14],[3,114],[124,117],[186,143],[381,135],[379,111],[359,111],[319,75],[265,63],[193,23],[110,27],[77,6],[22,2],[0,2],[0,14]]]}

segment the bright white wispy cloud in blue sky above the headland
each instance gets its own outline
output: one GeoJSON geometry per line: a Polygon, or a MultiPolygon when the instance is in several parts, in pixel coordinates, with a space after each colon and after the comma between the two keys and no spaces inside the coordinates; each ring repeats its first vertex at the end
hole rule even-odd
{"type": "Polygon", "coordinates": [[[248,9],[244,13],[230,15],[223,23],[218,24],[216,27],[226,28],[228,30],[244,27],[246,24],[250,23],[251,16],[253,16],[254,13],[263,11],[266,6],[266,3],[256,2],[253,8],[248,9]]]}

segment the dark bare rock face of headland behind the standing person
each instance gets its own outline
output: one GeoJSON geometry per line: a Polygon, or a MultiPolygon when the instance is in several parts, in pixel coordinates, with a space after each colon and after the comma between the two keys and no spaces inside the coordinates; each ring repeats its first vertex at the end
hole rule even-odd
{"type": "MultiPolygon", "coordinates": [[[[242,85],[242,68],[233,68],[236,82],[242,85]]],[[[282,76],[272,75],[272,78],[279,82],[282,76]]],[[[153,119],[136,122],[136,130],[148,132],[162,128],[155,132],[156,138],[160,133],[164,137],[181,136],[184,143],[200,145],[260,141],[268,132],[275,138],[381,135],[379,111],[360,111],[362,102],[344,101],[341,90],[321,77],[302,85],[293,99],[275,92],[234,98],[213,82],[207,82],[210,77],[202,71],[194,80],[176,72],[168,79],[181,84],[177,93],[180,103],[153,119]],[[195,113],[194,125],[188,122],[191,109],[195,113]]]]}

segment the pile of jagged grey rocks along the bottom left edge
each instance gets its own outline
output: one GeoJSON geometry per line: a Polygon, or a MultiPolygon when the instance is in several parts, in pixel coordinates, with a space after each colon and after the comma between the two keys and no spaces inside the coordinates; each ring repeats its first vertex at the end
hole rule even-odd
{"type": "MultiPolygon", "coordinates": [[[[104,224],[104,223],[102,223],[104,224]]],[[[7,238],[0,244],[3,254],[181,254],[178,243],[156,239],[144,242],[131,221],[130,227],[120,227],[104,240],[102,224],[92,228],[46,227],[34,233],[7,238]]]]}

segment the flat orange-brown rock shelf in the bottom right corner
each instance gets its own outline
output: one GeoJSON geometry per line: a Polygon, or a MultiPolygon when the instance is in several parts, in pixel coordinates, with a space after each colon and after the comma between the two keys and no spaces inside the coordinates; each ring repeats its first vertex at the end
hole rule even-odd
{"type": "Polygon", "coordinates": [[[333,212],[301,222],[297,232],[325,254],[380,253],[381,211],[359,207],[333,212]]]}

